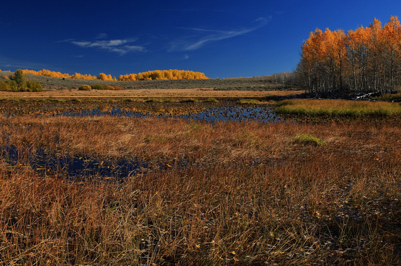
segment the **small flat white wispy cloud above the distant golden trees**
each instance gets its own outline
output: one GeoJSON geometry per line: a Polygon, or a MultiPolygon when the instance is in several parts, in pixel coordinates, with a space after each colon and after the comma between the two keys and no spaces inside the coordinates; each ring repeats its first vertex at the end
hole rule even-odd
{"type": "MultiPolygon", "coordinates": [[[[106,34],[99,35],[96,39],[103,39],[107,37],[106,34]]],[[[134,46],[133,42],[137,39],[109,39],[109,40],[97,40],[97,41],[76,41],[73,39],[64,40],[76,46],[82,48],[98,48],[102,50],[108,50],[109,52],[119,53],[124,55],[129,52],[145,52],[146,49],[143,46],[134,46]]]]}

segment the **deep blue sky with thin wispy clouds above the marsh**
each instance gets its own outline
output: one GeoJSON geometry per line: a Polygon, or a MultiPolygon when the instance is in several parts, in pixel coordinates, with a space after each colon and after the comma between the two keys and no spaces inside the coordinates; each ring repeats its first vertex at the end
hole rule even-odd
{"type": "Polygon", "coordinates": [[[315,28],[347,31],[400,14],[395,0],[4,1],[0,69],[271,75],[295,70],[315,28]]]}

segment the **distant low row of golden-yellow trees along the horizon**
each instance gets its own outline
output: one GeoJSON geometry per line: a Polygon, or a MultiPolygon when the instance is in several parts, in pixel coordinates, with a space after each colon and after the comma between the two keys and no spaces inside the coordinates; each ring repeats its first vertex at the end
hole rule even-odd
{"type": "Polygon", "coordinates": [[[92,79],[92,80],[105,80],[105,81],[136,81],[136,80],[158,80],[158,79],[207,79],[204,73],[194,72],[189,70],[153,70],[142,72],[138,74],[127,74],[120,75],[118,79],[111,77],[111,75],[106,75],[100,73],[98,76],[92,75],[82,75],[80,73],[75,73],[74,75],[69,75],[68,73],[60,73],[50,70],[22,70],[24,74],[41,75],[47,77],[60,77],[64,79],[92,79]]]}

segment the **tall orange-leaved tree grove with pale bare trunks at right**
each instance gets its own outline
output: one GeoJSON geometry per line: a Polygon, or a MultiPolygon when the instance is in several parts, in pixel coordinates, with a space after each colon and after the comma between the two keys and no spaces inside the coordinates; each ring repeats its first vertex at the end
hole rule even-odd
{"type": "Polygon", "coordinates": [[[396,91],[401,84],[401,26],[398,17],[382,26],[373,19],[356,30],[310,32],[297,66],[312,92],[396,91]]]}

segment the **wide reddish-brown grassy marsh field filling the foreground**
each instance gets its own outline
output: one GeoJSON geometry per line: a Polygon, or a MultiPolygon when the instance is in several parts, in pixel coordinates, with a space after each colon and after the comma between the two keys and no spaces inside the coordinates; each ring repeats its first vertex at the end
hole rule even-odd
{"type": "Polygon", "coordinates": [[[197,88],[0,95],[1,262],[401,263],[399,103],[197,88]],[[285,119],[177,116],[225,106],[285,119]]]}

